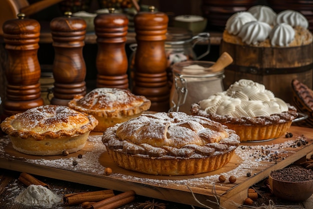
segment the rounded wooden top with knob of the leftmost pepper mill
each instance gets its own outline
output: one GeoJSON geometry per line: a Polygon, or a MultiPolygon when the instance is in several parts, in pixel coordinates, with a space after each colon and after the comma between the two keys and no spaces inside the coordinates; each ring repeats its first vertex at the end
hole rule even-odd
{"type": "Polygon", "coordinates": [[[7,20],[3,24],[4,39],[20,40],[39,37],[40,24],[36,20],[24,19],[24,14],[17,14],[18,19],[7,20]]]}

